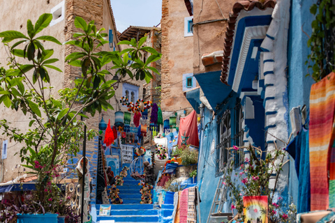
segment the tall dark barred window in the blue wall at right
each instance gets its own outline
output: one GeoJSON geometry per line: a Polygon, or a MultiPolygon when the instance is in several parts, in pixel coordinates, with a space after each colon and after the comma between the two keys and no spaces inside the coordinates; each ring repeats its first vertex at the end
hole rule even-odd
{"type": "Polygon", "coordinates": [[[225,165],[233,156],[234,167],[244,162],[243,149],[239,151],[228,150],[232,146],[243,146],[244,131],[242,128],[243,113],[241,103],[238,102],[233,109],[227,109],[218,118],[218,144],[216,145],[216,176],[223,174],[225,165]]]}

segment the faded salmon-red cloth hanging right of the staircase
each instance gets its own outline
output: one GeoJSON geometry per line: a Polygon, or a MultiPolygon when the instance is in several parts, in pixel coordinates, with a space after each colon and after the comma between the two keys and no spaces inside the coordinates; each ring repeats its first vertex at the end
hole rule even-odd
{"type": "Polygon", "coordinates": [[[199,147],[197,114],[195,110],[188,116],[180,118],[178,146],[185,143],[199,147]]]}

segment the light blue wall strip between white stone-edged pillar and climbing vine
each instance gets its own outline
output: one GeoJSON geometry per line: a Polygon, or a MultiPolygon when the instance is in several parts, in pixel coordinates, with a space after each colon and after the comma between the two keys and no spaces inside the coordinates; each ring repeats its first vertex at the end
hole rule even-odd
{"type": "MultiPolygon", "coordinates": [[[[300,105],[309,108],[309,95],[311,85],[314,83],[311,77],[306,77],[308,73],[307,56],[310,49],[307,47],[308,35],[311,35],[311,22],[314,20],[309,8],[316,0],[292,0],[290,30],[288,36],[288,109],[300,105]],[[302,27],[302,28],[301,28],[302,27]],[[304,32],[301,30],[303,29],[304,32]]],[[[312,65],[312,64],[311,64],[312,65]]],[[[311,70],[310,70],[311,73],[311,70]]],[[[289,132],[291,132],[290,118],[289,132]]],[[[294,160],[290,160],[289,193],[293,201],[297,204],[298,181],[295,172],[294,160]]]]}

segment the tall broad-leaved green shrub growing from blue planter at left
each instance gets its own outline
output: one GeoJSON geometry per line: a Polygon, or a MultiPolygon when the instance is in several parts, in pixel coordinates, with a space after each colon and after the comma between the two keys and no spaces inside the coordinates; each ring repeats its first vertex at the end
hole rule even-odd
{"type": "MultiPolygon", "coordinates": [[[[52,14],[46,13],[38,18],[36,24],[27,21],[27,33],[0,32],[10,61],[9,69],[0,68],[0,104],[13,109],[13,112],[20,110],[31,119],[27,132],[13,128],[6,119],[0,121],[0,129],[10,139],[24,144],[18,153],[21,162],[25,162],[24,167],[38,176],[32,200],[25,199],[20,208],[13,207],[10,213],[15,216],[11,220],[21,213],[56,213],[53,206],[64,199],[56,184],[57,179],[68,154],[77,155],[84,138],[85,123],[77,117],[89,118],[86,114],[94,116],[96,112],[113,109],[107,101],[114,96],[114,84],[126,76],[149,82],[153,78],[151,71],[158,73],[149,64],[161,59],[161,54],[154,48],[142,47],[147,37],[138,42],[135,39],[121,41],[119,44],[131,46],[122,52],[102,52],[99,47],[108,43],[105,40],[107,33],[103,33],[105,29],[97,30],[94,21],[87,23],[81,17],[75,17],[75,27],[81,32],[74,33],[73,40],[64,43],[77,50],[66,56],[66,63],[80,67],[82,78],[74,79],[72,88],[54,93],[49,72],[62,71],[52,65],[59,59],[52,58],[54,50],[45,49],[42,41],[61,43],[52,36],[40,36],[51,21],[52,14]],[[140,59],[143,52],[151,54],[146,62],[140,59]],[[20,63],[18,58],[22,58],[20,63]],[[114,64],[112,69],[116,70],[114,75],[119,76],[118,80],[112,79],[114,75],[110,70],[103,69],[110,62],[114,64]]],[[[93,139],[96,134],[94,130],[88,130],[87,139],[93,139]]],[[[0,215],[5,219],[7,213],[2,211],[0,215]]],[[[73,211],[68,215],[73,215],[73,211]]],[[[57,221],[56,217],[57,214],[54,215],[57,221]]],[[[20,218],[21,215],[19,221],[22,222],[20,218]]]]}

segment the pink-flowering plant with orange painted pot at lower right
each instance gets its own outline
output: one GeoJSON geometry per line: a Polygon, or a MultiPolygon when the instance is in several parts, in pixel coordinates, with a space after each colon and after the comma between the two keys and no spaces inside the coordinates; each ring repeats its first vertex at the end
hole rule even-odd
{"type": "MultiPolygon", "coordinates": [[[[265,218],[271,223],[294,221],[295,206],[292,204],[285,207],[281,197],[276,199],[274,197],[278,178],[286,163],[283,162],[285,151],[276,148],[271,153],[267,153],[263,160],[260,148],[255,146],[243,148],[250,151],[250,159],[245,158],[245,163],[241,164],[239,169],[234,169],[234,162],[228,162],[228,174],[223,181],[223,184],[228,186],[229,195],[232,198],[231,208],[237,211],[235,220],[244,222],[253,215],[253,219],[259,217],[262,222],[265,218]],[[276,174],[274,188],[269,187],[271,174],[276,174]]],[[[237,153],[241,151],[237,146],[233,146],[232,149],[237,153]]]]}

